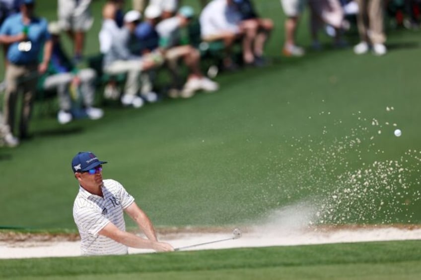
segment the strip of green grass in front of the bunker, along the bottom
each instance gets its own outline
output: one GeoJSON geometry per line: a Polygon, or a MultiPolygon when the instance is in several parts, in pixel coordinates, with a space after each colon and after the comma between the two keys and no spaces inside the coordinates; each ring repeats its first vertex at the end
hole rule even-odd
{"type": "Polygon", "coordinates": [[[2,279],[418,279],[420,241],[0,260],[2,279]]]}

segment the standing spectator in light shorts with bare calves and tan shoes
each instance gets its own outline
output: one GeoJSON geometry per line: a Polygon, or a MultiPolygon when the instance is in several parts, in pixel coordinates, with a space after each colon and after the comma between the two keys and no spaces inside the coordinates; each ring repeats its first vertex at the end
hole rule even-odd
{"type": "Polygon", "coordinates": [[[298,21],[304,9],[305,0],[281,0],[285,20],[285,43],[282,53],[284,56],[303,56],[304,49],[295,44],[295,34],[298,21]]]}

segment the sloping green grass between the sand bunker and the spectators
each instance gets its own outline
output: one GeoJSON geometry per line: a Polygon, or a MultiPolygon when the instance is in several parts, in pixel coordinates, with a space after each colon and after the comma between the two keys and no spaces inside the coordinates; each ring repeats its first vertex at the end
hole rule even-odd
{"type": "MultiPolygon", "coordinates": [[[[281,28],[272,3],[260,7],[281,28]]],[[[83,150],[109,161],[104,177],[158,226],[255,223],[303,203],[321,213],[315,223],[419,224],[418,32],[390,32],[384,57],[347,49],[302,59],[279,57],[281,32],[268,45],[272,65],[221,74],[215,94],[109,106],[101,120],[64,126],[38,103],[33,139],[0,149],[0,225],[75,230],[70,160],[83,150]]]]}

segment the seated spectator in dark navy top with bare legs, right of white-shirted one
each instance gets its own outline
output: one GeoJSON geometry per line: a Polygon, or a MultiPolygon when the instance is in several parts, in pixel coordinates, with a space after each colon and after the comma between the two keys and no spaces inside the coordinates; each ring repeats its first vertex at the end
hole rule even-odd
{"type": "Polygon", "coordinates": [[[250,48],[244,61],[247,64],[262,66],[265,43],[274,28],[274,22],[270,18],[260,17],[251,0],[234,0],[234,3],[241,14],[241,27],[246,33],[244,45],[250,48]]]}

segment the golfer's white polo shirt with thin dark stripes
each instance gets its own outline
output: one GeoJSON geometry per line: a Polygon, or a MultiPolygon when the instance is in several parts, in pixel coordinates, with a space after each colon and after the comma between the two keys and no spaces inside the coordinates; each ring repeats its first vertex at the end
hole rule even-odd
{"type": "Polygon", "coordinates": [[[127,246],[98,232],[108,223],[126,230],[123,210],[135,199],[117,181],[103,180],[103,197],[91,194],[79,186],[73,204],[73,219],[80,234],[82,255],[127,254],[127,246]]]}

